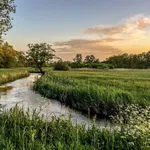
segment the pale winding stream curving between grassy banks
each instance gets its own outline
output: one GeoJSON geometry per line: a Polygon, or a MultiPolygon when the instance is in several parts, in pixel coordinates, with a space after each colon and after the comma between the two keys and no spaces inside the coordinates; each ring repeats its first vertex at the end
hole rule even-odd
{"type": "MultiPolygon", "coordinates": [[[[44,114],[48,119],[52,116],[65,119],[71,116],[72,122],[75,124],[85,124],[87,127],[92,125],[92,119],[86,115],[70,109],[56,100],[44,98],[33,91],[33,84],[39,77],[39,74],[32,73],[27,78],[3,85],[3,87],[8,87],[8,90],[0,90],[0,105],[4,106],[3,109],[10,109],[18,104],[19,107],[23,107],[25,110],[30,108],[31,112],[36,109],[40,112],[39,115],[44,114]]],[[[101,128],[109,127],[108,122],[105,120],[97,120],[95,124],[101,128]]]]}

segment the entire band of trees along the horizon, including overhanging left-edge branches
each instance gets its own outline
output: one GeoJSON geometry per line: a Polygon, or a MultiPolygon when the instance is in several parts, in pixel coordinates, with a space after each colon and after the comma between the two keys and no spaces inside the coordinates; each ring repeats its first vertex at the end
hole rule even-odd
{"type": "Polygon", "coordinates": [[[121,54],[107,58],[100,62],[94,55],[87,55],[84,60],[82,54],[77,54],[73,61],[51,62],[55,57],[51,46],[47,43],[29,44],[28,52],[16,51],[9,43],[3,42],[2,36],[12,28],[10,14],[16,12],[14,0],[0,1],[0,68],[36,67],[43,72],[43,66],[55,66],[56,69],[67,68],[150,68],[150,51],[141,54],[121,54]]]}

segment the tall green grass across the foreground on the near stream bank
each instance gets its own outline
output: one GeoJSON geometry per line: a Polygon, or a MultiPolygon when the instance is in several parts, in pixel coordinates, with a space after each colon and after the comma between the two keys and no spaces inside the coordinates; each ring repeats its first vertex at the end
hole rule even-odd
{"type": "MultiPolygon", "coordinates": [[[[127,108],[125,112],[130,109],[127,108]]],[[[145,113],[149,109],[142,111],[138,120],[136,117],[140,110],[137,107],[132,109],[129,124],[121,124],[119,128],[109,130],[98,129],[94,123],[88,129],[84,125],[73,125],[71,119],[53,117],[51,121],[46,121],[43,119],[44,116],[38,117],[36,110],[33,113],[30,113],[30,110],[24,112],[16,106],[0,114],[0,149],[149,150],[150,122],[142,119],[142,115],[146,115],[145,118],[150,117],[145,113]],[[133,115],[135,110],[136,115],[133,115]]]]}

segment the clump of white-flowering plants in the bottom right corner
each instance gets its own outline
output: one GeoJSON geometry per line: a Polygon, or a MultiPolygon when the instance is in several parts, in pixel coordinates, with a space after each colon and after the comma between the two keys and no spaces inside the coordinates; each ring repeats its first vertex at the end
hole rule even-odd
{"type": "Polygon", "coordinates": [[[128,141],[128,145],[133,147],[138,145],[139,148],[137,149],[142,150],[150,149],[149,106],[143,108],[139,105],[128,105],[127,107],[121,105],[120,112],[112,119],[119,125],[119,127],[115,127],[115,130],[121,132],[120,138],[128,141]]]}

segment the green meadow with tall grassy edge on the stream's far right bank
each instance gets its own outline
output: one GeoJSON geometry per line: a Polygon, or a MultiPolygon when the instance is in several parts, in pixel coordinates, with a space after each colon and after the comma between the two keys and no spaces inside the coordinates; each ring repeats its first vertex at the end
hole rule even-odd
{"type": "Polygon", "coordinates": [[[120,104],[150,104],[150,70],[50,71],[35,84],[42,95],[98,117],[120,104]]]}

